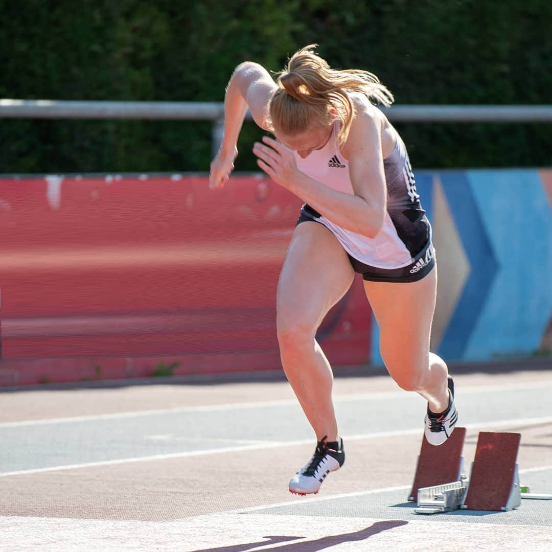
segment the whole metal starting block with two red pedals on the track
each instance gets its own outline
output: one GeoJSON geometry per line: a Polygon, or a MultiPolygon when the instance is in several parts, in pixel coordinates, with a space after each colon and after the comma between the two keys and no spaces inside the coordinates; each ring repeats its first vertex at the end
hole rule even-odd
{"type": "Polygon", "coordinates": [[[522,498],[552,500],[552,495],[533,494],[519,484],[520,433],[480,432],[469,479],[463,473],[461,457],[465,434],[464,427],[457,427],[439,447],[433,447],[423,438],[408,497],[409,501],[417,500],[416,513],[434,514],[456,508],[510,511],[521,505],[522,498]],[[450,475],[455,480],[443,480],[450,475]],[[430,483],[423,486],[422,481],[430,483]]]}

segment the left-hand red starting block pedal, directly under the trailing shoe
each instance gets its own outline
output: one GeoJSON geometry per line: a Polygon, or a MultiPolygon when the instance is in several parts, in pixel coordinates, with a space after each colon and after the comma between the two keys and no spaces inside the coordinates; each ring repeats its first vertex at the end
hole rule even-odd
{"type": "Polygon", "coordinates": [[[460,481],[464,468],[462,448],[465,437],[465,427],[455,428],[452,435],[437,447],[429,444],[427,439],[422,437],[422,447],[408,501],[417,502],[418,489],[423,487],[460,481]]]}

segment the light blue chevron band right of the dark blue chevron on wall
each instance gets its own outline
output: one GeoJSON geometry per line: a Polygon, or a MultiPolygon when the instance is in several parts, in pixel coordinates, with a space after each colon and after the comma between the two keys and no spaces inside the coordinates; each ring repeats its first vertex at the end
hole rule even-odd
{"type": "Polygon", "coordinates": [[[535,351],[552,310],[552,216],[537,171],[466,174],[500,260],[463,358],[535,351]]]}

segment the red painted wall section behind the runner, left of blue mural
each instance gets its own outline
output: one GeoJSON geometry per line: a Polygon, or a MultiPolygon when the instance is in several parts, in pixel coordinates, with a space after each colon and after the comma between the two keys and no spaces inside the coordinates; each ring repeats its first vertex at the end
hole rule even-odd
{"type": "MultiPolygon", "coordinates": [[[[299,207],[251,176],[0,179],[0,384],[280,369],[299,207]]],[[[369,360],[370,320],[357,279],[319,333],[332,362],[369,360]]]]}

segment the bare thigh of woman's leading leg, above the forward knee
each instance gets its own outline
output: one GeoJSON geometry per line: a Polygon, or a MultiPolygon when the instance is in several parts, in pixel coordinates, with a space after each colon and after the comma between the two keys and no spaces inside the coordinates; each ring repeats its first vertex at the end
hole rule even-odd
{"type": "Polygon", "coordinates": [[[278,281],[279,321],[316,328],[351,287],[354,270],[341,243],[319,222],[295,227],[278,281]]]}

